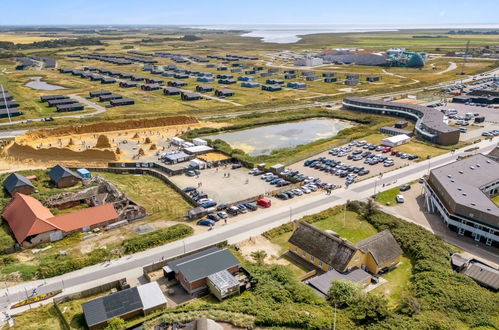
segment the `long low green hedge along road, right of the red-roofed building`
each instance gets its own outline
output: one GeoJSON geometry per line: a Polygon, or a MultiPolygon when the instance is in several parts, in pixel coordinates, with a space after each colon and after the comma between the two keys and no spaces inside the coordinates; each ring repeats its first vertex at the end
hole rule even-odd
{"type": "Polygon", "coordinates": [[[123,248],[126,254],[135,253],[147,250],[153,246],[190,236],[193,233],[194,230],[191,227],[184,224],[177,224],[152,233],[127,239],[123,242],[123,248]]]}

